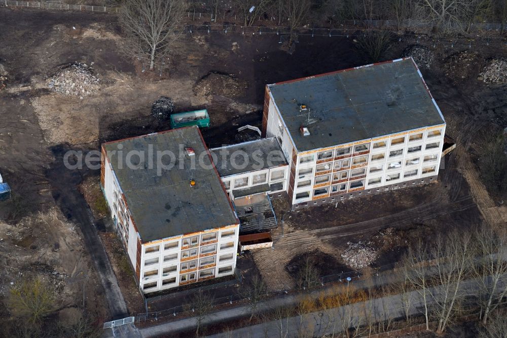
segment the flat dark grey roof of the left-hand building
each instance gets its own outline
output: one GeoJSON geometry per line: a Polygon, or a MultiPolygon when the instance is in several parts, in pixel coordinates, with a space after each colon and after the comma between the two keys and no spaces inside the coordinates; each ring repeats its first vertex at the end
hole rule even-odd
{"type": "MultiPolygon", "coordinates": [[[[104,149],[107,152],[118,150],[119,144],[123,146],[122,156],[110,153],[107,157],[125,194],[142,242],[238,223],[222,181],[206,153],[198,127],[110,142],[104,144],[104,149]],[[187,156],[185,147],[192,147],[195,155],[187,156]],[[180,152],[180,149],[183,151],[180,152]],[[172,168],[157,169],[156,157],[150,165],[150,153],[167,150],[175,155],[172,168]],[[126,165],[129,151],[145,152],[140,168],[126,165]],[[203,165],[199,165],[199,160],[203,165]],[[193,161],[195,165],[192,165],[193,161]],[[191,179],[196,182],[194,187],[190,186],[191,179]]],[[[139,162],[138,158],[132,156],[133,164],[139,162]]],[[[163,158],[165,164],[169,161],[169,156],[163,158]]]]}

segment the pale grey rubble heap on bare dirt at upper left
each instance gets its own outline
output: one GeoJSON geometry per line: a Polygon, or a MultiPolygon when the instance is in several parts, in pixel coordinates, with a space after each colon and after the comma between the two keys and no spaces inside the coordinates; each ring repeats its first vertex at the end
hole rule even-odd
{"type": "Polygon", "coordinates": [[[48,79],[50,89],[81,98],[96,91],[99,88],[98,83],[99,78],[93,75],[93,68],[79,62],[65,65],[55,76],[48,79]]]}

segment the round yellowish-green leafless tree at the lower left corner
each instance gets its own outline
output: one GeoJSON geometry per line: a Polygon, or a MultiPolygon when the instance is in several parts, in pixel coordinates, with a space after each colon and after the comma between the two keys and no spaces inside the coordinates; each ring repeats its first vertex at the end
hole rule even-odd
{"type": "Polygon", "coordinates": [[[31,326],[55,311],[55,291],[40,278],[24,280],[10,290],[9,310],[31,326]]]}

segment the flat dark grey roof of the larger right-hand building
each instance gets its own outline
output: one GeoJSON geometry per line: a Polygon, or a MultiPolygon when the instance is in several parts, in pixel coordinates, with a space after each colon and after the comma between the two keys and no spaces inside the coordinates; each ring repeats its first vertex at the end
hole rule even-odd
{"type": "Polygon", "coordinates": [[[445,123],[412,58],[268,88],[299,152],[445,123]]]}

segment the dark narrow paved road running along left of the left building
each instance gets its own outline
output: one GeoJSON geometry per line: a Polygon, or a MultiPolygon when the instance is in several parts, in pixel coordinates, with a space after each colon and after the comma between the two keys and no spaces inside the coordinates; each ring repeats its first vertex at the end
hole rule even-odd
{"type": "Polygon", "coordinates": [[[53,197],[63,214],[77,223],[83,232],[83,240],[91,261],[104,288],[104,301],[107,302],[111,319],[128,317],[127,305],[123,298],[118,280],[107,257],[102,241],[97,233],[91,213],[85,198],[78,190],[82,177],[77,170],[68,170],[63,165],[64,147],[53,148],[55,161],[46,172],[51,184],[53,197]]]}

